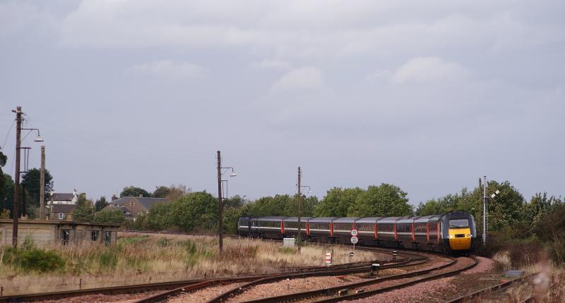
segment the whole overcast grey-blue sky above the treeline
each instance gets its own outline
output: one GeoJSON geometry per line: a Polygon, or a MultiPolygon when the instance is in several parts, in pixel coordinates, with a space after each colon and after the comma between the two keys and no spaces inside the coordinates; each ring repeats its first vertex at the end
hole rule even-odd
{"type": "Polygon", "coordinates": [[[56,192],[228,195],[478,178],[565,194],[564,1],[0,0],[0,143],[56,192]],[[30,168],[40,144],[28,134],[30,168]],[[4,139],[6,143],[4,144],[4,139]]]}

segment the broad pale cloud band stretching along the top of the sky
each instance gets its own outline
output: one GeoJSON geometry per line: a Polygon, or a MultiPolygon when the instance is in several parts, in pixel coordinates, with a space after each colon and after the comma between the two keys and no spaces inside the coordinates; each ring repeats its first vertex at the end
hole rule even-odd
{"type": "Polygon", "coordinates": [[[316,59],[470,45],[505,51],[565,41],[564,32],[554,26],[561,21],[550,14],[551,6],[528,2],[166,2],[85,0],[64,18],[61,41],[102,48],[244,47],[260,56],[316,59]],[[547,18],[540,22],[531,11],[547,18]]]}

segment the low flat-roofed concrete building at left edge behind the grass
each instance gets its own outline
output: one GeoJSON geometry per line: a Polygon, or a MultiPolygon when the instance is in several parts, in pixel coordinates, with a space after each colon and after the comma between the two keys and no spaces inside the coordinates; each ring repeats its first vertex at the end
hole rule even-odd
{"type": "MultiPolygon", "coordinates": [[[[11,219],[0,219],[0,246],[12,244],[12,227],[11,219]]],[[[20,220],[18,242],[30,237],[36,245],[78,245],[85,242],[111,245],[116,243],[120,227],[121,224],[116,223],[20,220]]]]}

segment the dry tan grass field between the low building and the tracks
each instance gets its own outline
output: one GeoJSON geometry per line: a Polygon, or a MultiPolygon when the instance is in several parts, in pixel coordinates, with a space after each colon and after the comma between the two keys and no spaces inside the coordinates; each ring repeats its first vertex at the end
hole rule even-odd
{"type": "Polygon", "coordinates": [[[4,295],[49,292],[138,283],[216,278],[241,274],[276,273],[295,266],[322,266],[326,251],[333,249],[334,264],[386,259],[374,252],[357,251],[349,259],[350,247],[308,245],[283,249],[281,242],[224,240],[218,254],[215,237],[189,235],[119,235],[117,245],[85,243],[50,247],[64,258],[64,269],[51,273],[23,272],[0,264],[4,295]],[[49,281],[46,283],[46,281],[49,281]]]}

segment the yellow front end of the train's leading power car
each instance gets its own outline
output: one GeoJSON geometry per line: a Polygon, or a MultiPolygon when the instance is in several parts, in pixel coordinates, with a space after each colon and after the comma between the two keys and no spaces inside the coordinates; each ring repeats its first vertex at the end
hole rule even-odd
{"type": "Polygon", "coordinates": [[[451,252],[467,253],[476,238],[475,220],[466,211],[451,211],[444,215],[444,241],[451,252]]]}

